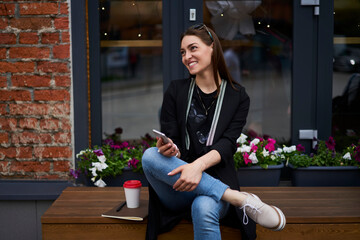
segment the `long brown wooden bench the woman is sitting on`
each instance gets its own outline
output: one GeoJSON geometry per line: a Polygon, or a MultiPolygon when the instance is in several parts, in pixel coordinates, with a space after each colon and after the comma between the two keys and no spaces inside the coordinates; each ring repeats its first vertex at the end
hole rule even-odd
{"type": "MultiPolygon", "coordinates": [[[[258,239],[360,239],[360,187],[243,187],[280,207],[287,218],[281,232],[257,227],[258,239]]],[[[121,187],[69,187],[41,218],[43,239],[145,239],[146,221],[101,217],[124,200],[121,187]]],[[[141,198],[148,198],[147,188],[141,198]]],[[[221,227],[222,239],[241,239],[237,229],[221,227]]],[[[164,239],[193,239],[182,221],[164,239]]]]}

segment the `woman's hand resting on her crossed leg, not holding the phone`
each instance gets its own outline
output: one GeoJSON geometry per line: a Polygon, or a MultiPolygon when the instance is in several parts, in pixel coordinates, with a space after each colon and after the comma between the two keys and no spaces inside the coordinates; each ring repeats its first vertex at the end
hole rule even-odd
{"type": "Polygon", "coordinates": [[[194,161],[169,172],[169,176],[181,173],[180,178],[173,185],[173,189],[180,192],[193,191],[200,183],[203,172],[202,169],[202,163],[200,161],[194,161]]]}

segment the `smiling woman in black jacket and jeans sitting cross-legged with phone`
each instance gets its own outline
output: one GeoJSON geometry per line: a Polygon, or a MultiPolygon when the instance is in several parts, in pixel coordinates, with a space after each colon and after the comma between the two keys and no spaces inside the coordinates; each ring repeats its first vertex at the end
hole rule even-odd
{"type": "Polygon", "coordinates": [[[233,155],[250,100],[231,78],[219,39],[196,25],[181,36],[180,52],[190,78],[172,81],[164,94],[161,131],[170,143],[159,138],[142,158],[150,183],[147,239],[189,216],[195,240],[221,239],[220,221],[240,228],[243,239],[256,238],[254,221],[283,229],[281,210],[239,191],[233,155]]]}

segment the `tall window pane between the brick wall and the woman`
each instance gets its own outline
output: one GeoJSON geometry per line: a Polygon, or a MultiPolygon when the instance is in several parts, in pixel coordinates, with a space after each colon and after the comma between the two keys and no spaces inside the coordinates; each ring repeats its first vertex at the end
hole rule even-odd
{"type": "Polygon", "coordinates": [[[102,128],[126,140],[159,128],[163,96],[162,2],[99,2],[102,128]]]}

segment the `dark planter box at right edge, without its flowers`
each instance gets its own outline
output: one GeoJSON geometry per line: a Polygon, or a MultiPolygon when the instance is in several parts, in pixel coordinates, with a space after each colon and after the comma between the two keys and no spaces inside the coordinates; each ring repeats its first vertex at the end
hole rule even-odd
{"type": "Polygon", "coordinates": [[[344,167],[300,167],[292,169],[293,186],[360,186],[360,169],[344,167]]]}

